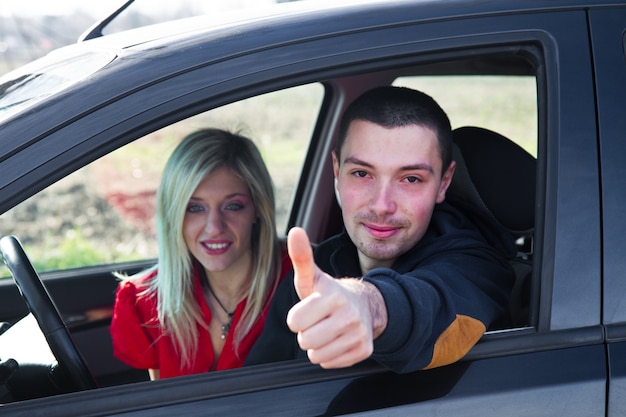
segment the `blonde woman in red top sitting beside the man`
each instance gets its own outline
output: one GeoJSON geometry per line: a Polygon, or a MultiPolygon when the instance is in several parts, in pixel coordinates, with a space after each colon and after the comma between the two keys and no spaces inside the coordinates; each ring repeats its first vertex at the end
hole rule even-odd
{"type": "Polygon", "coordinates": [[[261,155],[239,135],[192,133],[156,200],[158,263],[120,284],[115,356],[151,379],[242,366],[291,268],[261,155]]]}

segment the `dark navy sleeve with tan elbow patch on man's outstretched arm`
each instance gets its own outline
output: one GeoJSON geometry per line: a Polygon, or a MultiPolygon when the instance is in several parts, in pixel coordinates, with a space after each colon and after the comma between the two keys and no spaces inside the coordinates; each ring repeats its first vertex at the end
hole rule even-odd
{"type": "Polygon", "coordinates": [[[508,316],[514,273],[506,257],[480,239],[453,238],[440,239],[439,251],[410,271],[373,269],[364,277],[388,313],[372,358],[396,372],[453,363],[508,316]]]}

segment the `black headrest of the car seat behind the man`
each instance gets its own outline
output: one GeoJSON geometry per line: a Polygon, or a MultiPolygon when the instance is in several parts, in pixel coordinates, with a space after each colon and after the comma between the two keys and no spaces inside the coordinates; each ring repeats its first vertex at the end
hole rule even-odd
{"type": "Polygon", "coordinates": [[[485,209],[515,235],[535,225],[536,160],[522,147],[488,129],[452,132],[457,166],[448,192],[485,209]]]}

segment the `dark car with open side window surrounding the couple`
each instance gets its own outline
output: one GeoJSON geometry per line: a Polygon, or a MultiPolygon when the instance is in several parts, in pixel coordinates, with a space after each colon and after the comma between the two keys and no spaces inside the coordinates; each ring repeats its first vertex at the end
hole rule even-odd
{"type": "Polygon", "coordinates": [[[623,0],[288,2],[96,25],[1,77],[0,412],[623,415],[625,33],[623,0]],[[253,137],[279,233],[320,242],[342,227],[337,120],[389,84],[448,112],[465,167],[451,192],[517,239],[513,325],[406,374],[294,360],[148,381],[116,360],[113,273],[155,262],[154,190],[177,141],[206,126],[253,137]]]}

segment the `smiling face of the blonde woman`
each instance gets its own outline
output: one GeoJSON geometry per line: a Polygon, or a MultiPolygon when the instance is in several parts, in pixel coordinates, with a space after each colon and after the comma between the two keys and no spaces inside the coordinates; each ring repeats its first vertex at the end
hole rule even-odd
{"type": "Polygon", "coordinates": [[[209,276],[248,274],[256,210],[246,182],[228,167],[207,175],[187,203],[183,236],[209,276]]]}

